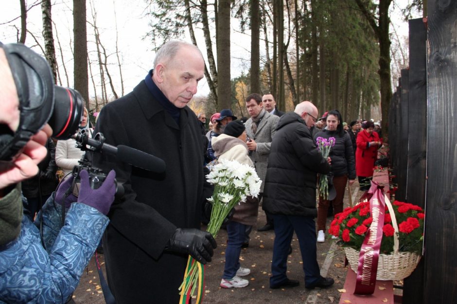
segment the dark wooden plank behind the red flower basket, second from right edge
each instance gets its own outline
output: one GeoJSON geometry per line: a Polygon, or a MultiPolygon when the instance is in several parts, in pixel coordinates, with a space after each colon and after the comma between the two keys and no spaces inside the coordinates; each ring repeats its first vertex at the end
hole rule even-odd
{"type": "MultiPolygon", "coordinates": [[[[427,149],[427,30],[422,18],[409,20],[408,179],[406,201],[425,206],[427,149]]],[[[404,279],[403,304],[423,302],[423,259],[404,279]]]]}

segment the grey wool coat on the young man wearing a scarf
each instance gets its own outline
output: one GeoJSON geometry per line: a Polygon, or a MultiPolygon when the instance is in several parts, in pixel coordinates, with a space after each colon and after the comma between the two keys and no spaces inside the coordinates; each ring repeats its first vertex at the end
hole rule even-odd
{"type": "Polygon", "coordinates": [[[278,116],[271,115],[265,111],[265,115],[257,126],[257,132],[255,134],[252,134],[251,130],[252,118],[247,119],[245,123],[246,134],[249,136],[249,138],[255,140],[257,143],[257,150],[253,151],[250,157],[254,163],[254,168],[257,172],[257,175],[259,175],[260,179],[262,180],[262,186],[260,189],[261,192],[264,192],[266,168],[268,166],[268,155],[270,154],[271,141],[275,135],[278,121],[278,116]]]}

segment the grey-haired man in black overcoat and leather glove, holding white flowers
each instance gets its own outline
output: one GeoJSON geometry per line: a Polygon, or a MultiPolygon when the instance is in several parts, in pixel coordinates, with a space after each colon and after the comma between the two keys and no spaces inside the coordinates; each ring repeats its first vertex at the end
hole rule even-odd
{"type": "Polygon", "coordinates": [[[103,239],[108,285],[118,304],[178,303],[188,255],[205,264],[216,248],[211,234],[199,229],[212,189],[205,183],[200,122],[187,106],[203,74],[201,52],[170,41],[146,78],[100,112],[95,132],[106,143],[166,163],[165,172],[155,173],[94,155],[93,165],[114,168],[125,189],[110,209],[103,239]]]}

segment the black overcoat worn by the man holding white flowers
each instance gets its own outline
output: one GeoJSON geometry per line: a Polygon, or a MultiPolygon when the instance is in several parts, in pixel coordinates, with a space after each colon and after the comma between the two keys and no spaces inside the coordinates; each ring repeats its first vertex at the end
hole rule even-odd
{"type": "Polygon", "coordinates": [[[208,196],[203,194],[208,184],[200,122],[189,107],[180,111],[178,126],[141,81],[105,105],[97,121],[95,133],[102,132],[106,143],[127,145],[166,163],[166,171],[158,174],[108,154],[93,155],[93,166],[114,168],[125,188],[111,206],[103,238],[108,284],[117,304],[179,302],[188,256],[164,248],[177,227],[200,227],[208,196]]]}

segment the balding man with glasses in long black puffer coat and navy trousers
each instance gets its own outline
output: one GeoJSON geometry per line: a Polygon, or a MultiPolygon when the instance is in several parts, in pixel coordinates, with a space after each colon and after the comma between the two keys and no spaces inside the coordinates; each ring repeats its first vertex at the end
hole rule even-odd
{"type": "Polygon", "coordinates": [[[316,259],[316,173],[330,172],[330,158],[316,148],[310,128],[317,108],[309,101],[281,116],[271,142],[265,178],[264,209],[273,215],[275,241],[270,288],[297,287],[287,278],[287,252],[294,234],[299,239],[305,287],[329,287],[334,280],[320,275],[316,259]]]}

